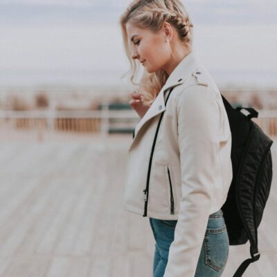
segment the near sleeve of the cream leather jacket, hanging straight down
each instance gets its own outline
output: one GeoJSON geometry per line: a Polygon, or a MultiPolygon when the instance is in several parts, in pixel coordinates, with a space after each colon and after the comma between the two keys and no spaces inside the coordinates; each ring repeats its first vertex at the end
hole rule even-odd
{"type": "Polygon", "coordinates": [[[199,84],[184,89],[177,118],[182,195],[164,277],[194,277],[218,176],[220,109],[214,91],[199,84]]]}

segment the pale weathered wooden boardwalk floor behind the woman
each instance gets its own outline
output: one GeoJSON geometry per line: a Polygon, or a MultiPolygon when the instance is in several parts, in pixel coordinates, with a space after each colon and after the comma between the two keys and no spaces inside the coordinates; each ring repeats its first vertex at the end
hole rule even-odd
{"type": "MultiPolygon", "coordinates": [[[[0,277],[151,277],[148,217],[123,211],[127,147],[94,143],[1,143],[0,277]]],[[[277,141],[273,145],[277,170],[277,141]]],[[[277,276],[276,171],[259,227],[261,258],[245,277],[277,276]]],[[[230,247],[223,277],[249,258],[230,247]]]]}

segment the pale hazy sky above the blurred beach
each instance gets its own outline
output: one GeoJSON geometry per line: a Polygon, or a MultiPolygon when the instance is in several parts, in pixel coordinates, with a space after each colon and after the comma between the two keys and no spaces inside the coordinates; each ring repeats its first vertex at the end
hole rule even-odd
{"type": "MultiPolygon", "coordinates": [[[[0,86],[127,84],[118,19],[129,0],[0,0],[0,86]]],[[[276,86],[277,1],[182,1],[217,83],[276,86]]]]}

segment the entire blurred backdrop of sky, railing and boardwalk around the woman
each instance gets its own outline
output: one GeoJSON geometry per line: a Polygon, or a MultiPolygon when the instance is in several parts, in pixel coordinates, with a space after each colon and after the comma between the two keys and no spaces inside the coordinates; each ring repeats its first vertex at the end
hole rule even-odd
{"type": "MultiPolygon", "coordinates": [[[[154,238],[123,211],[139,116],[119,17],[129,0],[0,0],[0,276],[151,276],[154,238]]],[[[194,51],[277,154],[277,2],[182,1],[194,51]]],[[[274,168],[276,161],[274,159],[274,168]]],[[[277,274],[276,177],[245,276],[277,274]],[[257,265],[256,265],[257,264],[257,265]],[[248,275],[247,275],[248,274],[248,275]]],[[[226,276],[249,257],[231,247],[226,276]]]]}

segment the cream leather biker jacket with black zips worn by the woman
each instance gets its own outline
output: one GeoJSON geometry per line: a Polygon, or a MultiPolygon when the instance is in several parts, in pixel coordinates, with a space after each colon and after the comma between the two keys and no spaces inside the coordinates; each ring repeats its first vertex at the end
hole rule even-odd
{"type": "Polygon", "coordinates": [[[220,91],[191,52],[136,125],[128,150],[125,211],[178,220],[164,277],[195,276],[208,216],[223,206],[232,177],[220,91]]]}

